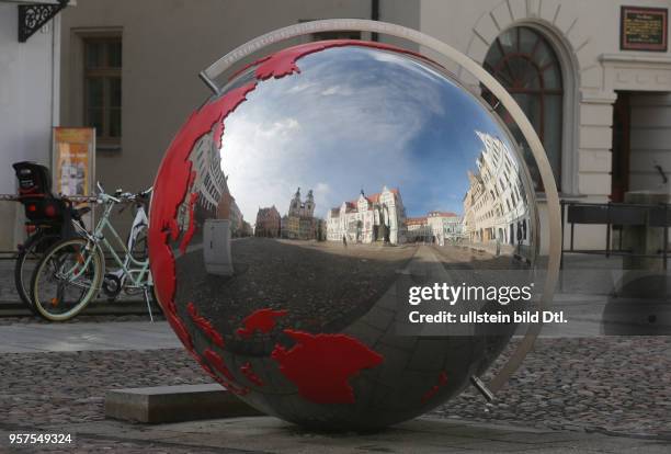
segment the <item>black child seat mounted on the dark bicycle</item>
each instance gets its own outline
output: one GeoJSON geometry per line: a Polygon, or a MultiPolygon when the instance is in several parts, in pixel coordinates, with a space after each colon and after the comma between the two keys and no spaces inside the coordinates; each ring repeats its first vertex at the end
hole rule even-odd
{"type": "Polygon", "coordinates": [[[31,161],[12,164],[19,181],[19,200],[31,224],[61,224],[65,202],[52,193],[52,175],[45,166],[31,161]]]}

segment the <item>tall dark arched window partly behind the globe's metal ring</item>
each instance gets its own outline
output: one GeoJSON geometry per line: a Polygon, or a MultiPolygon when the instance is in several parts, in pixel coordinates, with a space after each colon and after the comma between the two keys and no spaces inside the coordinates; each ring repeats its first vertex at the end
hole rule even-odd
{"type": "MultiPolygon", "coordinates": [[[[503,32],[494,41],[482,66],[505,87],[536,129],[559,188],[564,88],[557,54],[535,29],[519,26],[503,32]]],[[[482,95],[492,106],[499,105],[487,90],[482,95]]],[[[538,169],[521,130],[507,113],[502,113],[502,118],[515,140],[524,144],[523,151],[536,190],[543,190],[538,169]]]]}

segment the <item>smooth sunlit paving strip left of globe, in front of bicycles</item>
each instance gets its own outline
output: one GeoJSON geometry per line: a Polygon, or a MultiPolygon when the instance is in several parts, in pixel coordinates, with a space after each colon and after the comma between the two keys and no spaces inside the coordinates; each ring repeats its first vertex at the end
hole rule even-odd
{"type": "Polygon", "coordinates": [[[0,353],[181,348],[167,321],[0,326],[0,353]]]}

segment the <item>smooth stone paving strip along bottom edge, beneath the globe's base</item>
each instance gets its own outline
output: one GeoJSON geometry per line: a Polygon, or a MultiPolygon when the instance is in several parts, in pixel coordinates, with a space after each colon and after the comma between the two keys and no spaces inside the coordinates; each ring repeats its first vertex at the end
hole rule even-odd
{"type": "MultiPolygon", "coordinates": [[[[546,431],[502,424],[419,418],[382,432],[316,433],[272,417],[232,418],[159,425],[99,421],[43,428],[55,433],[72,433],[77,443],[89,439],[152,442],[167,452],[186,449],[200,452],[248,453],[669,453],[671,442],[599,433],[546,431]]],[[[7,443],[0,427],[0,449],[7,443]]],[[[77,446],[72,446],[77,447],[77,446]]],[[[112,451],[114,452],[114,451],[112,451]]]]}

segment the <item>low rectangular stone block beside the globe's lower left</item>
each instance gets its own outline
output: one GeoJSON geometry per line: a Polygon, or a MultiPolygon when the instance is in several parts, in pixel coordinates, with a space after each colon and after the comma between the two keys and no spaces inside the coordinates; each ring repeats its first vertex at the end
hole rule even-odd
{"type": "Polygon", "coordinates": [[[218,384],[111,389],[105,416],[124,421],[160,423],[260,416],[218,384]]]}

